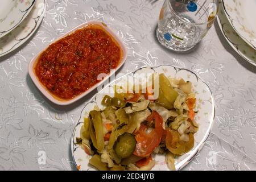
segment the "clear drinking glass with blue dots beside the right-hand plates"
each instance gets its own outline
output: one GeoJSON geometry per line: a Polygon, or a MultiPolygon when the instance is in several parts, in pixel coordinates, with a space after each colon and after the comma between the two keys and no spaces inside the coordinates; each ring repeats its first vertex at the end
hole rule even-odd
{"type": "Polygon", "coordinates": [[[156,35],[174,51],[188,51],[207,34],[218,13],[218,0],[166,0],[156,35]]]}

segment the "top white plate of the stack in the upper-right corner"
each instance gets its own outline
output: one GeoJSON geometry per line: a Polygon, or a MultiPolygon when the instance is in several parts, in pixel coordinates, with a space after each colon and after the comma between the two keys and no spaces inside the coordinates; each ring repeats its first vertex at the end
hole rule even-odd
{"type": "Polygon", "coordinates": [[[256,49],[256,1],[223,0],[225,13],[238,35],[256,49]]]}

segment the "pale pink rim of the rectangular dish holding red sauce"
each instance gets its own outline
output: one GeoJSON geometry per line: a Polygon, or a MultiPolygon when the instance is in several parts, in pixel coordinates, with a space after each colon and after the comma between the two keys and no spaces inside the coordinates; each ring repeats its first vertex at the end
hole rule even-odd
{"type": "MultiPolygon", "coordinates": [[[[67,32],[65,35],[61,36],[60,38],[56,39],[55,42],[57,42],[57,40],[71,34],[72,32],[78,30],[79,28],[88,26],[88,24],[98,24],[100,26],[102,26],[106,31],[109,32],[110,35],[113,36],[113,38],[117,41],[117,43],[119,44],[119,46],[121,47],[122,51],[123,51],[123,58],[120,61],[119,65],[117,68],[115,68],[114,72],[110,72],[108,76],[104,77],[102,79],[102,81],[98,82],[96,85],[92,86],[91,88],[89,88],[88,90],[86,90],[85,92],[81,93],[79,96],[76,96],[74,98],[72,98],[71,100],[68,101],[60,101],[57,100],[55,97],[52,96],[51,93],[49,93],[49,91],[40,83],[40,81],[38,80],[38,77],[35,75],[34,73],[34,64],[36,63],[36,60],[38,59],[38,56],[45,50],[43,50],[42,52],[38,53],[38,55],[36,55],[31,61],[30,64],[28,65],[28,73],[30,75],[30,77],[32,78],[32,81],[34,82],[34,84],[37,86],[37,88],[44,94],[44,96],[46,96],[48,98],[48,100],[52,101],[53,103],[57,104],[57,105],[69,105],[72,104],[73,102],[76,102],[77,100],[79,100],[80,98],[86,96],[88,93],[92,92],[94,89],[96,89],[99,85],[102,84],[102,82],[105,82],[110,76],[112,76],[116,71],[118,71],[119,68],[122,67],[122,65],[125,63],[126,58],[127,58],[127,49],[125,47],[125,45],[123,44],[122,40],[120,38],[118,38],[118,36],[110,29],[106,26],[106,24],[102,24],[101,22],[96,22],[96,21],[91,21],[91,22],[86,22],[86,23],[82,23],[79,26],[77,26],[76,28],[73,28],[71,31],[67,32]]],[[[53,42],[54,43],[54,42],[53,42]]],[[[47,46],[48,47],[48,46],[47,46]]],[[[47,49],[47,48],[46,48],[47,49]]]]}

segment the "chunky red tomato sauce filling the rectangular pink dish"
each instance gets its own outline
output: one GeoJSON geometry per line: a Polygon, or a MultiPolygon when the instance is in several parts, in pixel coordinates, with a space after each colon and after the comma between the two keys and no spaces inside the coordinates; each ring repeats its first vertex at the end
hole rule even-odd
{"type": "Polygon", "coordinates": [[[92,24],[76,30],[43,51],[34,71],[53,96],[70,100],[110,73],[122,59],[122,49],[101,26],[92,24]]]}

